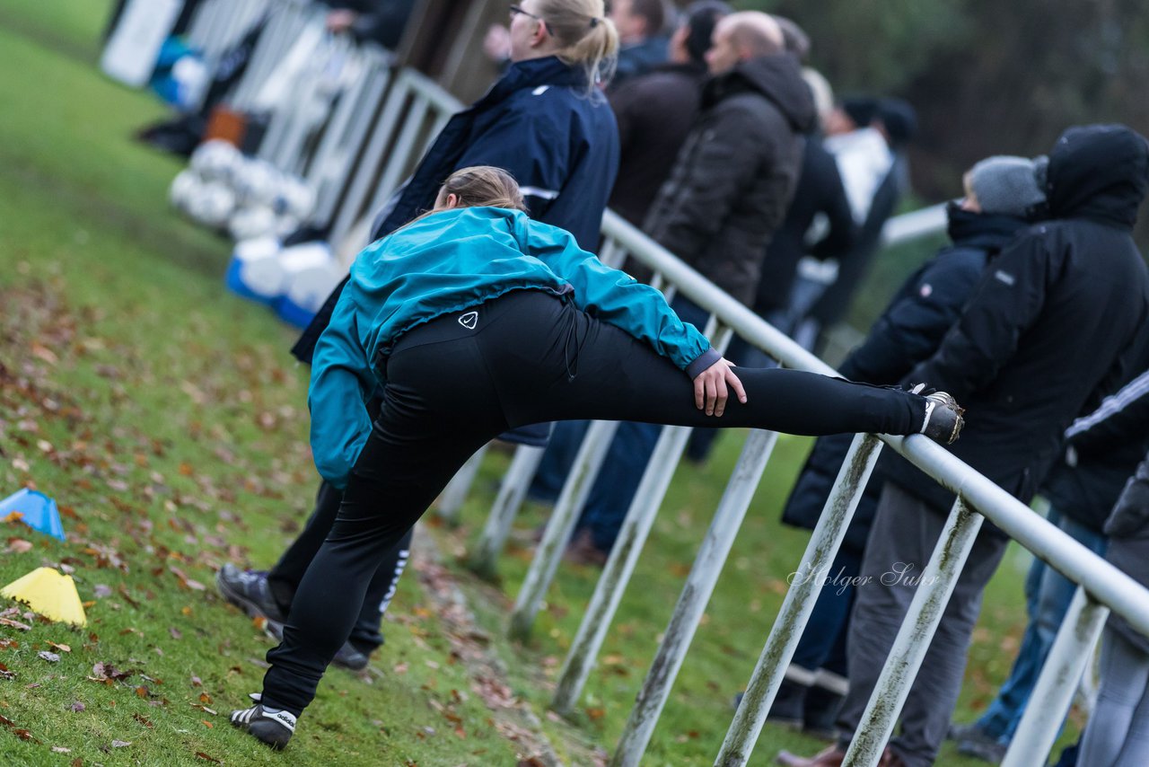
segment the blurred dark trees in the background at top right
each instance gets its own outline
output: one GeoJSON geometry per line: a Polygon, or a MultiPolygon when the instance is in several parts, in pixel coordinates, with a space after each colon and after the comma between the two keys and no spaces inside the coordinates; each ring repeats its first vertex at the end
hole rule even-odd
{"type": "MultiPolygon", "coordinates": [[[[811,64],[839,94],[913,105],[913,189],[961,193],[990,154],[1041,154],[1075,123],[1149,133],[1149,14],[1140,0],[742,0],[812,40],[811,64]]],[[[1139,240],[1149,244],[1149,216],[1139,240]]]]}

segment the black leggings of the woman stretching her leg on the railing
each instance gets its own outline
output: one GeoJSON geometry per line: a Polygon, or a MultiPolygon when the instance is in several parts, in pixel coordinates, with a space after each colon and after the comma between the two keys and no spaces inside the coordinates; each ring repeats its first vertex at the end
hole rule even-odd
{"type": "Polygon", "coordinates": [[[917,394],[781,369],[739,370],[747,404],[731,397],[720,419],[707,416],[694,405],[689,378],[669,360],[539,291],[508,293],[415,328],[395,344],[385,373],[383,411],[339,515],[295,592],[283,644],[268,652],[268,707],[295,715],[307,707],[350,634],[380,558],[458,467],[510,427],[593,419],[905,435],[925,419],[917,394]],[[476,322],[470,312],[478,313],[476,322]]]}

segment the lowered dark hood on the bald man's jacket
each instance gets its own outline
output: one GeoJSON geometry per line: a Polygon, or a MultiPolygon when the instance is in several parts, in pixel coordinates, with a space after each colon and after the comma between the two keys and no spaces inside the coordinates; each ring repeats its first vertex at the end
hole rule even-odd
{"type": "Polygon", "coordinates": [[[799,133],[809,133],[818,124],[813,95],[802,79],[802,67],[788,53],[749,59],[728,72],[715,76],[707,84],[702,106],[746,90],[757,91],[770,99],[799,133]]]}

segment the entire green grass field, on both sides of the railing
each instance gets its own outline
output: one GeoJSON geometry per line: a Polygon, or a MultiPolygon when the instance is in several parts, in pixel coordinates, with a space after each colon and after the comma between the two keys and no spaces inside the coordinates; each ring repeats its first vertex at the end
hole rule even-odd
{"type": "MultiPolygon", "coordinates": [[[[288,753],[226,724],[259,689],[270,641],[215,597],[213,574],[225,561],[270,565],[306,516],[316,484],[306,370],[286,354],[288,329],[224,291],[228,244],[169,208],[180,164],[131,140],[164,110],[98,74],[108,5],[0,7],[9,72],[0,78],[9,107],[0,110],[0,494],[30,485],[55,497],[69,534],[60,544],[3,530],[0,583],[62,566],[88,603],[83,630],[20,609],[7,618],[30,630],[0,626],[0,664],[13,674],[0,680],[0,764],[454,766],[532,756],[487,705],[498,696],[457,662],[426,578],[404,581],[371,674],[329,675],[288,753]]],[[[457,555],[506,454],[484,466],[460,527],[423,529],[506,666],[502,682],[566,761],[592,764],[616,742],[739,447],[727,435],[708,466],[679,470],[570,721],[546,707],[596,570],[562,568],[534,638],[502,638],[529,552],[508,551],[498,586],[470,577],[457,555]]],[[[780,440],[645,764],[712,762],[805,544],[777,517],[808,447],[780,440]]],[[[543,514],[527,508],[522,528],[543,514]]],[[[1024,566],[1011,552],[987,592],[958,719],[984,708],[1009,670],[1024,566]]],[[[768,727],[754,764],[820,745],[768,727]]],[[[977,762],[947,751],[941,764],[977,762]]]]}

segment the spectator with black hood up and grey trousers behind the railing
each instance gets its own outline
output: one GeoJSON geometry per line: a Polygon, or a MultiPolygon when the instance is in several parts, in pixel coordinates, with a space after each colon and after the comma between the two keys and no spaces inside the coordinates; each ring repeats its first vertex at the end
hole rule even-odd
{"type": "MultiPolygon", "coordinates": [[[[1056,220],[997,256],[940,348],[907,377],[966,404],[969,427],[954,454],[1021,501],[1049,471],[1073,419],[1141,359],[1149,274],[1132,229],[1147,189],[1149,146],[1139,133],[1123,125],[1063,133],[1047,182],[1056,220]]],[[[869,581],[850,618],[850,689],[838,719],[845,735],[818,760],[792,765],[832,764],[845,753],[913,598],[916,582],[882,575],[895,562],[902,573],[925,569],[954,500],[904,459],[887,453],[882,462],[887,482],[861,569],[869,581]]],[[[932,764],[946,736],[981,591],[1007,542],[986,524],[957,577],[889,744],[909,767],[932,764]]]]}

